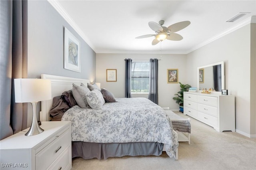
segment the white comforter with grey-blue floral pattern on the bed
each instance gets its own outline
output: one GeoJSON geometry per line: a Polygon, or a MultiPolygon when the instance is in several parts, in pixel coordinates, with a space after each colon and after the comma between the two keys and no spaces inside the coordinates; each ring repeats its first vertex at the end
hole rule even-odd
{"type": "Polygon", "coordinates": [[[116,98],[100,110],[70,108],[62,121],[72,121],[72,141],[97,143],[159,142],[172,158],[178,138],[164,110],[146,98],[116,98]]]}

